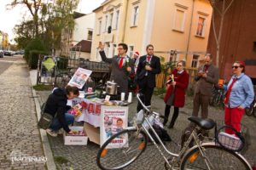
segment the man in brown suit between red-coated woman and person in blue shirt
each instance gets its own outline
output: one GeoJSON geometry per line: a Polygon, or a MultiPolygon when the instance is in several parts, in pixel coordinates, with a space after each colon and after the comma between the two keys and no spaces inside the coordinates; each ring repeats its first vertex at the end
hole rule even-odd
{"type": "Polygon", "coordinates": [[[201,106],[201,117],[208,117],[208,105],[212,96],[212,87],[218,83],[218,68],[212,65],[212,55],[206,54],[204,65],[198,68],[195,76],[193,116],[198,116],[201,106]]]}

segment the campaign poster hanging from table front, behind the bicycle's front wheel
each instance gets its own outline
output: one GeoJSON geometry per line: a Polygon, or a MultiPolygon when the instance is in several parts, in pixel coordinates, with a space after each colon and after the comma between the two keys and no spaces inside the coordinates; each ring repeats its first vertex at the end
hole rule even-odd
{"type": "MultiPolygon", "coordinates": [[[[103,106],[101,108],[101,146],[113,134],[119,133],[127,127],[128,107],[126,106],[103,106]]],[[[127,136],[119,136],[113,139],[113,144],[108,148],[119,148],[120,145],[127,144],[127,136]]]]}

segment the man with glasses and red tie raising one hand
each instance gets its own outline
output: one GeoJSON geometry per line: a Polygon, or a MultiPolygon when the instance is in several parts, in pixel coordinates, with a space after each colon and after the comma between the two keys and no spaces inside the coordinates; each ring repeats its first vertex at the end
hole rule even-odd
{"type": "Polygon", "coordinates": [[[110,81],[114,81],[119,85],[118,93],[128,94],[128,77],[134,74],[134,63],[131,58],[128,57],[128,47],[125,43],[119,43],[118,55],[114,55],[113,58],[107,58],[104,52],[104,44],[99,42],[100,55],[102,61],[112,65],[112,71],[110,81]]]}

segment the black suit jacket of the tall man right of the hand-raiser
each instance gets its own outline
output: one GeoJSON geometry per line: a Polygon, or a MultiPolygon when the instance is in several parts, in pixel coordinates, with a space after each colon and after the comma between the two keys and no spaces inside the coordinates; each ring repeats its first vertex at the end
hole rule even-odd
{"type": "MultiPolygon", "coordinates": [[[[139,86],[143,86],[143,79],[145,79],[145,75],[146,75],[146,70],[145,70],[145,66],[147,65],[147,55],[143,55],[139,58],[139,64],[137,65],[137,82],[139,86]]],[[[147,79],[150,81],[147,81],[146,83],[148,83],[148,87],[149,88],[154,88],[155,87],[155,75],[159,74],[161,69],[160,69],[160,58],[153,55],[149,65],[152,68],[152,71],[148,71],[148,76],[147,79]]]]}

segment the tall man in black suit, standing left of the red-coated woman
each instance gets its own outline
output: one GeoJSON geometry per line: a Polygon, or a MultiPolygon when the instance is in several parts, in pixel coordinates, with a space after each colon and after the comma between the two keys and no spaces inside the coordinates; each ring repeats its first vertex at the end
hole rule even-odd
{"type": "MultiPolygon", "coordinates": [[[[155,87],[155,75],[159,74],[160,58],[154,55],[154,46],[149,44],[146,48],[147,55],[139,58],[137,65],[137,84],[139,92],[144,94],[141,98],[144,105],[151,105],[151,97],[155,87]]],[[[138,102],[137,111],[143,109],[143,106],[138,102]]]]}

